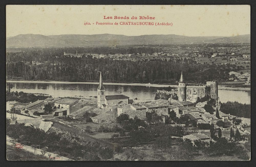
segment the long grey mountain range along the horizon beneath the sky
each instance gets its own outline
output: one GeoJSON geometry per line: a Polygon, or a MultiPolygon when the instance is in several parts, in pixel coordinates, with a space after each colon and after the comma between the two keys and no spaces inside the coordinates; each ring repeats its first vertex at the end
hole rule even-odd
{"type": "Polygon", "coordinates": [[[160,45],[160,44],[204,44],[204,43],[250,42],[250,34],[231,37],[208,36],[189,37],[182,35],[140,35],[125,36],[114,34],[97,35],[39,35],[20,34],[7,37],[6,47],[40,46],[113,46],[113,45],[160,45]]]}

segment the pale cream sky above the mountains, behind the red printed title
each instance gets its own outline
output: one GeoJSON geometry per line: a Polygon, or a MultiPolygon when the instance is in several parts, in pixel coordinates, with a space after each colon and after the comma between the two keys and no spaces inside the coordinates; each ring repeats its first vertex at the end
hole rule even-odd
{"type": "Polygon", "coordinates": [[[236,36],[250,34],[249,5],[7,5],[6,36],[18,34],[175,34],[236,36]],[[103,19],[103,17],[129,19],[103,19]],[[154,20],[132,20],[135,16],[154,20]],[[89,22],[91,25],[84,25],[89,22]],[[172,26],[96,25],[96,22],[168,22],[172,26]],[[94,24],[92,24],[94,23],[94,24]]]}

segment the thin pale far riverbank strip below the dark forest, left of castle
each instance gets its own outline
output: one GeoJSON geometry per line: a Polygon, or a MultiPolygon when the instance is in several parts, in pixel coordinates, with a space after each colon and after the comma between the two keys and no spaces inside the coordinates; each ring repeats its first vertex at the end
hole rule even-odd
{"type": "MultiPolygon", "coordinates": [[[[16,83],[47,83],[47,84],[95,84],[98,85],[99,82],[68,82],[68,81],[14,81],[7,80],[6,82],[16,82],[16,83]]],[[[178,88],[178,85],[159,85],[159,84],[139,84],[139,83],[110,83],[104,82],[104,85],[129,85],[129,86],[147,86],[147,87],[173,87],[178,88]]]]}

